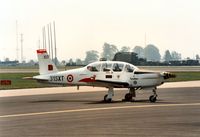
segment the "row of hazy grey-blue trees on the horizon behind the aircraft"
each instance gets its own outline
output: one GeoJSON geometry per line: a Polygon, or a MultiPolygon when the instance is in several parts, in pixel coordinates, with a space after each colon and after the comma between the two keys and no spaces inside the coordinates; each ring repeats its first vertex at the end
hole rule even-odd
{"type": "MultiPolygon", "coordinates": [[[[159,49],[153,44],[148,44],[144,48],[141,46],[135,46],[133,49],[131,49],[131,47],[123,46],[121,49],[118,49],[116,45],[104,43],[102,49],[102,53],[99,53],[96,50],[86,51],[84,60],[76,59],[76,61],[73,61],[70,59],[67,65],[87,65],[91,62],[98,61],[99,58],[113,60],[113,57],[117,52],[134,52],[137,54],[138,58],[145,59],[149,62],[170,62],[180,61],[182,59],[181,53],[176,51],[170,52],[169,50],[166,50],[164,56],[162,57],[159,49]]],[[[199,55],[196,55],[196,59],[199,59],[199,55]]],[[[62,64],[64,63],[65,61],[62,62],[62,64]]]]}

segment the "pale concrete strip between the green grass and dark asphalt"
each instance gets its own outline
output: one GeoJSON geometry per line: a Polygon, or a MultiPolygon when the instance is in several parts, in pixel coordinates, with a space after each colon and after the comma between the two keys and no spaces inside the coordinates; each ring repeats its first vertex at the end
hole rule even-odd
{"type": "MultiPolygon", "coordinates": [[[[186,81],[186,82],[167,82],[159,86],[158,89],[162,88],[189,88],[189,87],[200,87],[200,81],[186,81]]],[[[127,89],[115,89],[115,90],[127,90],[127,89]]],[[[0,90],[1,97],[11,96],[27,96],[27,95],[44,95],[44,94],[58,94],[58,93],[79,93],[79,92],[95,92],[95,91],[107,91],[106,88],[99,87],[51,87],[51,88],[32,88],[32,89],[11,89],[11,90],[0,90]]]]}

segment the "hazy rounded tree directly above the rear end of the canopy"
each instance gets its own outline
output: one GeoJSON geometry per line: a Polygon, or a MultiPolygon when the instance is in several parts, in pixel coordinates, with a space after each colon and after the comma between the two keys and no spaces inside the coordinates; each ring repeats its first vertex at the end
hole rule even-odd
{"type": "Polygon", "coordinates": [[[89,64],[91,62],[95,62],[99,58],[99,52],[96,50],[90,50],[86,52],[86,57],[85,57],[85,64],[89,64]]]}

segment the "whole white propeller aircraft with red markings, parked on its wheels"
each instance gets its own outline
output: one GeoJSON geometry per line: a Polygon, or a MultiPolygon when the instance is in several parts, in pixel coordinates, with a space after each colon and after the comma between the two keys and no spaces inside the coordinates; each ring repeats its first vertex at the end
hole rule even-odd
{"type": "Polygon", "coordinates": [[[120,61],[97,61],[83,68],[58,71],[49,58],[45,49],[37,50],[40,75],[32,79],[38,82],[58,84],[64,86],[93,86],[106,87],[108,94],[104,96],[105,102],[111,102],[114,88],[127,88],[124,101],[132,101],[136,97],[137,89],[151,88],[153,95],[151,102],[157,100],[156,87],[163,84],[165,79],[175,77],[169,72],[142,71],[136,66],[120,61]]]}

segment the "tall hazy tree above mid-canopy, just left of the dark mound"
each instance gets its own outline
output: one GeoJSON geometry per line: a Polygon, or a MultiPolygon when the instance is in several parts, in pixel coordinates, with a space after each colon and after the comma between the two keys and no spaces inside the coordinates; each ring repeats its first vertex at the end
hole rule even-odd
{"type": "Polygon", "coordinates": [[[118,49],[115,45],[110,45],[108,43],[104,43],[102,58],[106,58],[107,60],[112,60],[115,53],[117,53],[117,52],[118,52],[118,49]]]}

